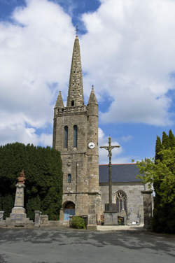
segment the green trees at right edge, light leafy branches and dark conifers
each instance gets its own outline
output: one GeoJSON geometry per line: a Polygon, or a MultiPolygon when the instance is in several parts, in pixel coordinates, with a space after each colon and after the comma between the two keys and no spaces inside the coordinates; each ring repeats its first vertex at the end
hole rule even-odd
{"type": "Polygon", "coordinates": [[[155,232],[175,233],[175,139],[172,131],[169,136],[162,134],[162,142],[157,137],[155,158],[137,162],[143,183],[153,185],[155,201],[153,211],[153,230],[155,232]]]}

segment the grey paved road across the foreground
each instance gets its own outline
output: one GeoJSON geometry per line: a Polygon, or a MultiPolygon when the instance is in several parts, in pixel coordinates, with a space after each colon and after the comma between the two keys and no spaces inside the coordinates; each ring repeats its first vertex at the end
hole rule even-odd
{"type": "Polygon", "coordinates": [[[0,263],[174,263],[174,236],[0,229],[0,263]]]}

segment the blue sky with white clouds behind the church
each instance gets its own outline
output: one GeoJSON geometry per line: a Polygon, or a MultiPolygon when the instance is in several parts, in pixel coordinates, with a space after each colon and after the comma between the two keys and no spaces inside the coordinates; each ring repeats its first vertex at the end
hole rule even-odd
{"type": "MultiPolygon", "coordinates": [[[[113,164],[153,157],[175,134],[175,0],[0,0],[0,145],[52,145],[78,25],[85,104],[94,85],[99,146],[113,164]]],[[[99,162],[108,163],[99,149],[99,162]]]]}

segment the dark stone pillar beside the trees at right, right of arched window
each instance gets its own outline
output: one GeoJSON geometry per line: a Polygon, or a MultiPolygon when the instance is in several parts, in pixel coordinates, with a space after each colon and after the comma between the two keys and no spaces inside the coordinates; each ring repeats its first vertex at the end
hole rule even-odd
{"type": "Polygon", "coordinates": [[[144,202],[144,227],[146,229],[151,228],[151,219],[152,219],[152,190],[141,191],[143,194],[143,202],[144,202]]]}

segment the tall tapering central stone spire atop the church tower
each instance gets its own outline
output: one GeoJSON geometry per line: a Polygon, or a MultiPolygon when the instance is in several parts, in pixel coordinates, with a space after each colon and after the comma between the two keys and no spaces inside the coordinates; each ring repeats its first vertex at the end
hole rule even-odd
{"type": "Polygon", "coordinates": [[[71,73],[69,79],[69,92],[67,97],[67,107],[84,105],[83,96],[83,76],[80,62],[80,45],[76,36],[73,45],[71,61],[71,73]]]}

